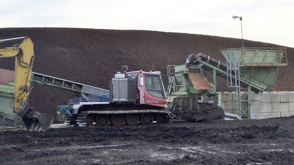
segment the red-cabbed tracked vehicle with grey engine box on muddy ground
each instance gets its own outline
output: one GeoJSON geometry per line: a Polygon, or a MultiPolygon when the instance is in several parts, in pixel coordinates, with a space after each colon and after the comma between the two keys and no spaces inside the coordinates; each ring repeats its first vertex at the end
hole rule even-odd
{"type": "Polygon", "coordinates": [[[127,72],[121,67],[109,83],[110,94],[71,99],[61,106],[64,123],[69,126],[121,126],[170,123],[172,114],[167,109],[167,93],[159,71],[127,72]]]}

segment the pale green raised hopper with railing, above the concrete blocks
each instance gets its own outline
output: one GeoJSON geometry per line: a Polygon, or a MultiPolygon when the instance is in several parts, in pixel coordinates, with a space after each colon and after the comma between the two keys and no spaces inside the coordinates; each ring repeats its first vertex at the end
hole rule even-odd
{"type": "Polygon", "coordinates": [[[256,93],[275,90],[278,70],[287,66],[285,48],[230,48],[220,52],[227,60],[228,86],[238,86],[242,77],[260,87],[252,88],[256,93]]]}

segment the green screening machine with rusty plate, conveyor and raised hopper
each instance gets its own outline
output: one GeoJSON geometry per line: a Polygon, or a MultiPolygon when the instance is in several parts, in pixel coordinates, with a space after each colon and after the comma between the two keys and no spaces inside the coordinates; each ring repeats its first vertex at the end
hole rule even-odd
{"type": "MultiPolygon", "coordinates": [[[[278,70],[287,66],[285,48],[229,48],[220,52],[226,63],[211,56],[198,53],[188,56],[185,64],[169,65],[168,74],[173,76],[173,85],[168,88],[169,103],[177,98],[200,96],[202,99],[212,97],[216,100],[217,76],[228,80],[227,87],[235,87],[237,91],[238,115],[250,118],[251,91],[259,93],[275,90],[278,70]],[[206,78],[213,75],[213,83],[206,78]],[[240,96],[244,88],[246,96],[240,96]],[[246,98],[245,98],[246,97],[246,98]],[[241,108],[242,101],[248,102],[248,108],[241,108]],[[248,99],[249,98],[249,99],[248,99]],[[245,100],[244,100],[245,99],[245,100]]],[[[179,104],[185,104],[182,101],[179,104]]],[[[179,105],[182,106],[182,105],[179,105]]]]}

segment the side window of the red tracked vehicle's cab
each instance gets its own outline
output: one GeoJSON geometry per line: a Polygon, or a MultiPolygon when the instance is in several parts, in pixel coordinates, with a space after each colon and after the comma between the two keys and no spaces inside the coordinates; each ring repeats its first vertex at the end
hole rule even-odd
{"type": "Polygon", "coordinates": [[[160,77],[145,76],[145,86],[149,94],[155,97],[166,98],[160,77]]]}

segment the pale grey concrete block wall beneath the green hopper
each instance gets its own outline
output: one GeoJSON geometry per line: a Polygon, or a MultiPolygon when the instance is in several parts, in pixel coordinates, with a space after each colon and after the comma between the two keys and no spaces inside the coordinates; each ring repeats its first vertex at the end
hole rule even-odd
{"type": "MultiPolygon", "coordinates": [[[[218,103],[227,113],[237,114],[237,93],[217,92],[218,103]]],[[[244,92],[241,92],[241,96],[244,92]]],[[[294,115],[294,92],[262,92],[258,95],[251,92],[251,119],[287,117],[294,115]]],[[[242,99],[241,99],[242,100],[242,99]]],[[[248,108],[247,102],[241,101],[243,110],[248,108]]]]}

